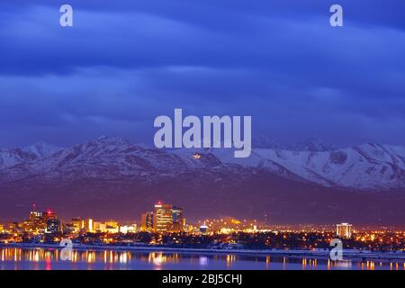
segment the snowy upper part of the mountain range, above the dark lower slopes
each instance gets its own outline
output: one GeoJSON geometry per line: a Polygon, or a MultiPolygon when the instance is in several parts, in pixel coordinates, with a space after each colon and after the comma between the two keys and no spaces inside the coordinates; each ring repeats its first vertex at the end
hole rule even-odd
{"type": "Polygon", "coordinates": [[[273,145],[262,140],[262,145],[253,148],[247,158],[233,157],[231,149],[162,150],[109,137],[71,148],[46,143],[28,148],[3,148],[0,149],[0,184],[27,178],[148,178],[223,169],[238,171],[236,177],[247,171],[266,170],[293,181],[345,189],[405,187],[404,147],[368,143],[335,148],[317,139],[304,141],[295,148],[269,147],[269,143],[273,145]],[[193,157],[196,152],[202,157],[193,157]]]}

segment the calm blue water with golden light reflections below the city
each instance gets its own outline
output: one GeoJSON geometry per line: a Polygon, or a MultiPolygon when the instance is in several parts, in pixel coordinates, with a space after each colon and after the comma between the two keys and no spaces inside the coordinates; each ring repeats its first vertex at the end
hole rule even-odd
{"type": "Polygon", "coordinates": [[[268,270],[404,270],[402,262],[329,261],[311,257],[187,254],[174,252],[122,252],[74,250],[72,261],[60,260],[54,248],[0,247],[0,269],[268,269],[268,270]]]}

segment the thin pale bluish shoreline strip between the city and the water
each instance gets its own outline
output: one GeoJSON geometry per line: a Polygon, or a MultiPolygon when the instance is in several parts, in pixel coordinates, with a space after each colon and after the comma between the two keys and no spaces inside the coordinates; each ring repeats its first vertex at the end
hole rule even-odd
{"type": "MultiPolygon", "coordinates": [[[[61,249],[58,244],[34,244],[34,243],[11,243],[0,244],[0,248],[16,247],[16,248],[42,248],[42,249],[61,249]]],[[[159,252],[159,253],[181,253],[181,254],[198,254],[198,255],[239,255],[250,257],[315,257],[319,259],[329,259],[329,250],[302,250],[302,249],[268,249],[268,250],[253,250],[253,249],[210,249],[210,248],[181,248],[181,247],[159,247],[159,246],[110,246],[110,245],[84,245],[74,244],[74,250],[78,251],[101,251],[111,250],[116,252],[159,252]]],[[[343,251],[345,260],[376,260],[376,261],[398,261],[405,260],[405,250],[398,251],[367,251],[346,249],[343,251]]]]}

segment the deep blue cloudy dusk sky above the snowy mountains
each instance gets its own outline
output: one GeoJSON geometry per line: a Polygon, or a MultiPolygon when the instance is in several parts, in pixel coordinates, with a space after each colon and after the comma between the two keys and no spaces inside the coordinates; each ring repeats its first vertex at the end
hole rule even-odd
{"type": "Polygon", "coordinates": [[[282,142],[405,145],[404,14],[402,0],[2,1],[0,147],[150,143],[175,108],[252,115],[253,137],[282,142]]]}

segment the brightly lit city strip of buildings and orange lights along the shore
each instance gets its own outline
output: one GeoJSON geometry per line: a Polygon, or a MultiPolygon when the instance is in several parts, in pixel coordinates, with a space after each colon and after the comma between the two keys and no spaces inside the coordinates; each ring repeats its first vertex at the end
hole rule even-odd
{"type": "MultiPolygon", "coordinates": [[[[0,223],[0,243],[58,243],[69,238],[85,245],[143,245],[204,247],[215,249],[300,248],[315,251],[329,248],[334,238],[344,248],[367,251],[405,251],[401,229],[354,228],[337,225],[269,225],[258,220],[234,217],[185,219],[184,210],[174,204],[157,202],[152,211],[141,214],[140,223],[93,218],[61,220],[55,211],[40,212],[33,205],[28,219],[0,223]]],[[[90,257],[91,258],[91,257],[90,257]]],[[[122,257],[125,261],[125,257],[122,257]]],[[[370,267],[373,267],[370,264],[370,267]]]]}

